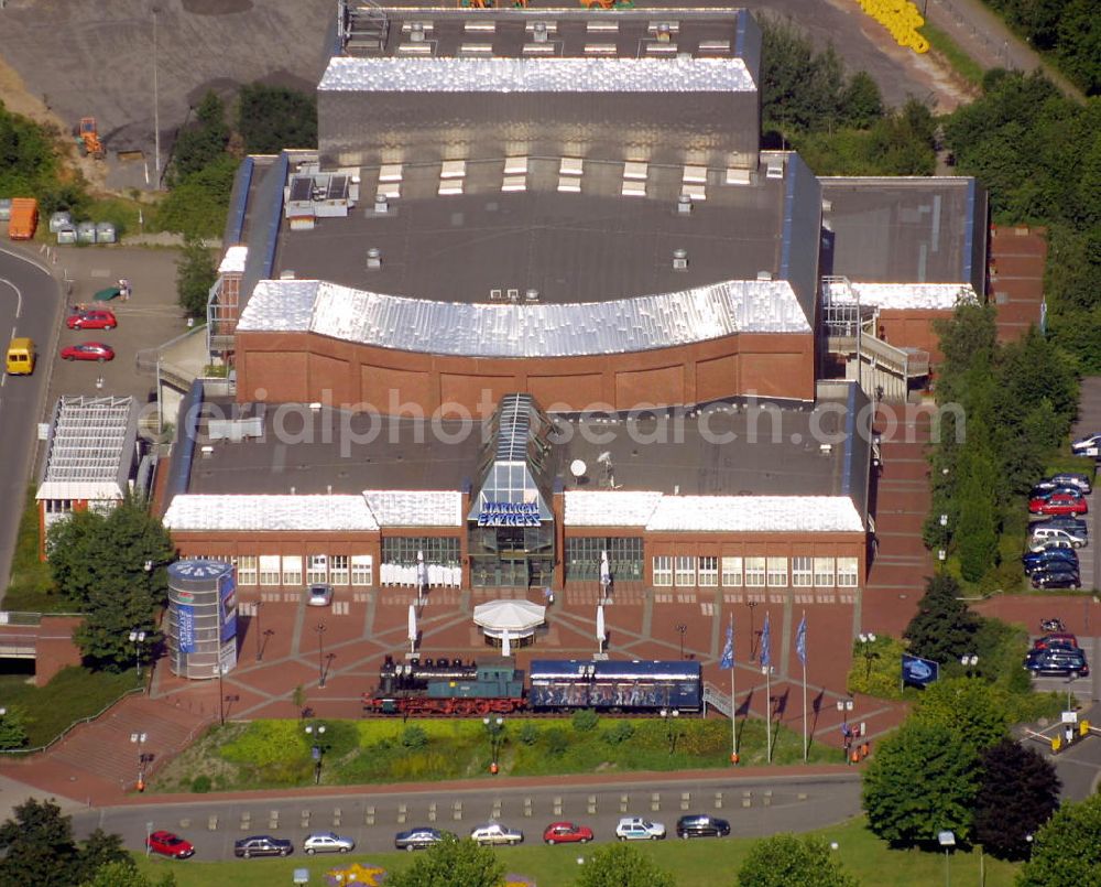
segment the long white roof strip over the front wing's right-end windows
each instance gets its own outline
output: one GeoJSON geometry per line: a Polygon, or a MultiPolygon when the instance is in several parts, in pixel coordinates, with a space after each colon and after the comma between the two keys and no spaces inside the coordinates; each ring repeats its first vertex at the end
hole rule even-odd
{"type": "Polygon", "coordinates": [[[847,496],[664,496],[646,524],[651,532],[860,533],[860,513],[847,496]]]}

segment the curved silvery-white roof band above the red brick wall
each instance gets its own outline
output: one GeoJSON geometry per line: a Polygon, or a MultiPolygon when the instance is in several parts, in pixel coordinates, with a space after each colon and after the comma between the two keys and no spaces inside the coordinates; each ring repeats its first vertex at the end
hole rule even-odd
{"type": "Polygon", "coordinates": [[[612,302],[467,304],[264,280],[238,332],[313,332],[344,342],[467,357],[579,357],[689,345],[734,333],[809,333],[787,281],[728,280],[612,302]]]}

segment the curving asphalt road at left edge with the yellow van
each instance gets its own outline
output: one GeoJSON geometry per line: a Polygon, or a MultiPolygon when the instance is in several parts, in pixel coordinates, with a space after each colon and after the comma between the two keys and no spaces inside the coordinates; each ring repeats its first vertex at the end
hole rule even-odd
{"type": "MultiPolygon", "coordinates": [[[[23,498],[30,482],[37,423],[50,386],[54,337],[59,322],[61,288],[44,266],[0,247],[0,347],[14,336],[34,339],[32,376],[0,376],[0,597],[11,570],[23,498]],[[11,507],[14,504],[14,507],[11,507]]],[[[2,365],[0,365],[2,370],[2,365]]]]}

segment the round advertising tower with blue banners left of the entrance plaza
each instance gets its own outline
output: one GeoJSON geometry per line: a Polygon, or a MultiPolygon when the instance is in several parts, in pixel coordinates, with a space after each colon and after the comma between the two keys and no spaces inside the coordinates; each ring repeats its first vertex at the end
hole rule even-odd
{"type": "Polygon", "coordinates": [[[168,566],[168,662],[181,678],[217,678],[237,666],[237,574],[222,561],[168,566]]]}

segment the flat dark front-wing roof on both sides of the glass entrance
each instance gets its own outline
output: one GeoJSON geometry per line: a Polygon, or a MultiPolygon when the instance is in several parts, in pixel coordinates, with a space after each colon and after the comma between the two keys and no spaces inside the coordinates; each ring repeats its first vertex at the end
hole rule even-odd
{"type": "MultiPolygon", "coordinates": [[[[815,428],[826,433],[843,430],[844,418],[835,404],[844,403],[843,398],[822,398],[817,415],[809,408],[761,409],[742,402],[661,422],[652,417],[635,422],[622,417],[554,417],[560,433],[547,456],[548,473],[567,489],[608,489],[613,479],[617,489],[672,494],[679,488],[682,495],[844,495],[841,436],[825,441],[832,448],[824,454],[813,433],[815,428]],[[610,476],[598,463],[602,453],[610,454],[610,476]],[[569,473],[578,458],[588,466],[584,483],[569,473]]],[[[220,407],[227,413],[231,409],[228,403],[220,407]]],[[[458,423],[443,422],[440,428],[460,437],[458,423]]],[[[217,442],[208,456],[200,454],[207,443],[201,435],[200,426],[188,493],[286,494],[292,487],[298,494],[329,488],[334,494],[457,490],[476,480],[482,446],[477,424],[459,442],[444,443],[429,425],[411,419],[391,423],[386,418],[313,412],[305,405],[270,405],[263,440],[217,442]],[[284,430],[287,443],[277,440],[276,428],[284,430]],[[367,442],[372,428],[378,430],[375,439],[367,442]]]]}

